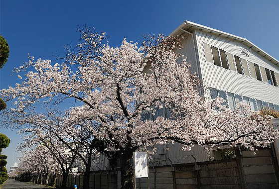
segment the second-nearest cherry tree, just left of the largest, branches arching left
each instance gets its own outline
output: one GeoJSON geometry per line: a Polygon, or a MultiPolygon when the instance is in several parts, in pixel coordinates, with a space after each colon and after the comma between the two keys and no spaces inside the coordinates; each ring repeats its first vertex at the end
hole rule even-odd
{"type": "MultiPolygon", "coordinates": [[[[47,145],[49,141],[51,142],[55,138],[67,151],[76,154],[80,161],[80,167],[85,170],[83,186],[88,186],[91,165],[98,157],[98,152],[94,150],[94,145],[92,145],[93,135],[87,130],[83,122],[71,124],[67,119],[64,119],[67,114],[61,114],[61,112],[58,113],[57,111],[54,113],[54,111],[49,111],[46,114],[33,112],[31,115],[25,115],[19,120],[14,120],[17,123],[20,122],[21,125],[26,125],[24,129],[20,130],[21,134],[27,134],[24,146],[32,145],[37,140],[39,142],[47,141],[45,144],[47,145]]],[[[92,122],[91,126],[94,126],[94,124],[92,122]]],[[[64,178],[67,177],[64,176],[64,178]]]]}

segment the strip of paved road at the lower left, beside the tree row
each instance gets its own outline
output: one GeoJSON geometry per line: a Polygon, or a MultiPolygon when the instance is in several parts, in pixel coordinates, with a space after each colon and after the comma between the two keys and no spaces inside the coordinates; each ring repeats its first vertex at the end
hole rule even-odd
{"type": "Polygon", "coordinates": [[[49,188],[40,185],[35,185],[32,183],[19,182],[10,179],[10,180],[6,180],[6,182],[3,184],[1,189],[49,189],[49,188]]]}

